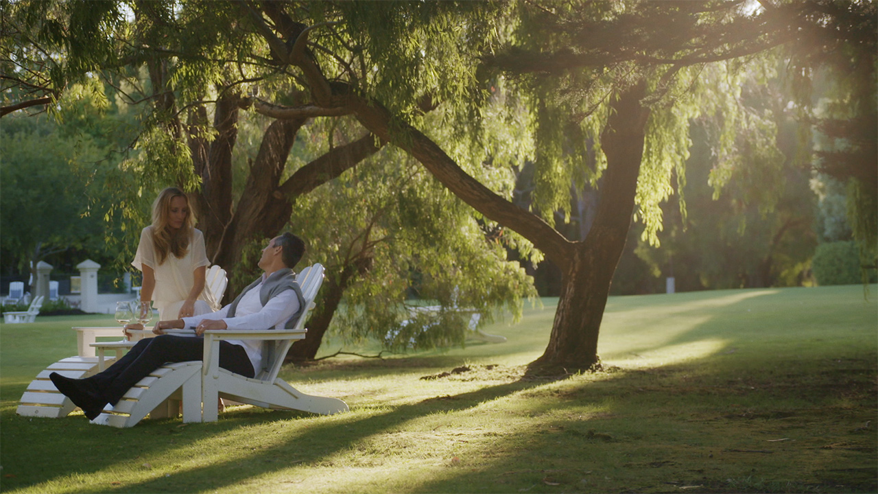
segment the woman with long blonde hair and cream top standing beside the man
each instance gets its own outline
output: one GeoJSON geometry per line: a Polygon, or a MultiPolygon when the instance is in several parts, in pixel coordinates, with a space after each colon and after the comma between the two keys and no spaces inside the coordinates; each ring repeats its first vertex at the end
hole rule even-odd
{"type": "Polygon", "coordinates": [[[216,305],[205,290],[205,236],[193,222],[186,194],[168,187],[153,202],[153,224],[140,232],[131,264],[143,273],[140,304],[155,301],[159,321],[206,314],[216,305]]]}

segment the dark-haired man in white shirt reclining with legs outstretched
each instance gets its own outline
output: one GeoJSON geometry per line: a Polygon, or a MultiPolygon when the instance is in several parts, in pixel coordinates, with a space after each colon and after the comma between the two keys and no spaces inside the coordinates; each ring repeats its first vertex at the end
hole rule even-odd
{"type": "MultiPolygon", "coordinates": [[[[304,253],[305,243],[298,236],[284,233],[272,238],[259,259],[259,267],[264,271],[262,277],[244,288],[226,307],[202,316],[160,321],[153,329],[160,336],[140,340],[104,372],[85,379],[70,379],[57,373],[49,374],[49,378],[55,388],[93,420],[107,403],[119,403],[128,389],[166,362],[202,360],[206,330],[282,330],[287,323],[296,323],[303,309],[301,290],[292,268],[304,253]],[[194,328],[198,338],[164,334],[164,330],[185,328],[194,328]]],[[[258,340],[220,341],[219,367],[254,377],[262,367],[261,343],[258,340]]]]}

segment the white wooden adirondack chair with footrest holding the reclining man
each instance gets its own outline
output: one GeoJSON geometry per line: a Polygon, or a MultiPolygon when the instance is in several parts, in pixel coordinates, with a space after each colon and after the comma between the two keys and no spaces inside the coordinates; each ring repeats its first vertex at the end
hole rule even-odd
{"type": "Polygon", "coordinates": [[[212,422],[218,418],[216,403],[220,397],[265,408],[326,415],[347,411],[348,405],[340,399],[306,395],[277,378],[292,343],[305,338],[305,321],[308,312],[314,308],[313,300],[323,282],[323,266],[306,267],[297,280],[306,305],[293,329],[205,331],[204,360],[159,367],[149,377],[140,380],[115,407],[107,407],[92,422],[131,427],[147,414],[153,418],[176,415],[180,401],[183,403],[184,422],[212,422]],[[263,369],[259,369],[254,379],[219,367],[219,341],[226,339],[264,341],[263,369]],[[169,404],[165,403],[166,400],[170,400],[169,404]]]}

